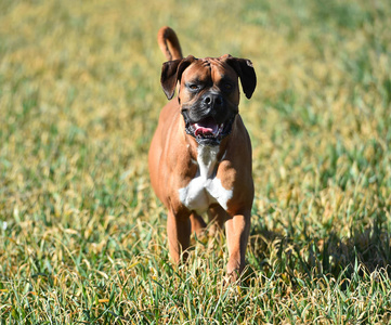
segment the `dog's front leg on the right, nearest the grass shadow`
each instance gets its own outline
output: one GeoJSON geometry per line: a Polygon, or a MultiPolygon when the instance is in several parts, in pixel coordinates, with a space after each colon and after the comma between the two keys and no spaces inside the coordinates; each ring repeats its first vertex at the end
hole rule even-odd
{"type": "Polygon", "coordinates": [[[235,214],[225,222],[226,242],[229,245],[227,275],[236,281],[245,268],[245,255],[250,232],[251,212],[235,214]]]}

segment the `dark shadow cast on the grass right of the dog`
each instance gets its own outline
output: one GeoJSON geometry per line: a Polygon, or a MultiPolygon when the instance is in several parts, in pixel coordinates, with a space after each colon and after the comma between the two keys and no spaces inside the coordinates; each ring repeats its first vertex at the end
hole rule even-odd
{"type": "Polygon", "coordinates": [[[342,281],[355,272],[364,275],[376,270],[391,277],[391,236],[381,224],[353,231],[349,238],[330,233],[325,238],[304,240],[260,230],[250,237],[248,259],[265,276],[277,272],[292,283],[299,274],[309,280],[326,276],[342,281]]]}

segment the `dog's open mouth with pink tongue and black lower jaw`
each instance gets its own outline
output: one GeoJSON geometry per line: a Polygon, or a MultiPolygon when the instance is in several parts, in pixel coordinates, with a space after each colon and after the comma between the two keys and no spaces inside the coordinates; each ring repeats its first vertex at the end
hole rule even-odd
{"type": "Polygon", "coordinates": [[[223,123],[217,123],[216,120],[208,116],[197,122],[191,122],[187,114],[183,112],[186,122],[186,133],[193,135],[199,144],[219,145],[221,140],[231,133],[232,123],[235,115],[223,123]]]}

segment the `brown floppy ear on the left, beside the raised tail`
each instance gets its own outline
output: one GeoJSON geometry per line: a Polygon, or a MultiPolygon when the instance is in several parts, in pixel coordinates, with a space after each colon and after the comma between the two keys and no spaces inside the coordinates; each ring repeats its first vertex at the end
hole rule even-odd
{"type": "Polygon", "coordinates": [[[160,83],[167,99],[173,98],[178,80],[181,80],[184,69],[195,60],[193,55],[188,55],[185,58],[168,61],[162,64],[160,83]]]}

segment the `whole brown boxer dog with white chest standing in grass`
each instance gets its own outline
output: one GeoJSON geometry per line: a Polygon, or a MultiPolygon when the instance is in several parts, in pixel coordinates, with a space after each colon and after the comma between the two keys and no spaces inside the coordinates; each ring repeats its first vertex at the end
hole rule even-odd
{"type": "Polygon", "coordinates": [[[160,28],[158,43],[170,60],[161,86],[169,100],[152,140],[148,165],[156,195],[168,209],[170,255],[175,262],[210,221],[225,223],[227,274],[245,266],[253,199],[251,143],[238,114],[239,86],[248,99],[257,77],[249,60],[231,55],[182,57],[175,32],[160,28]]]}

